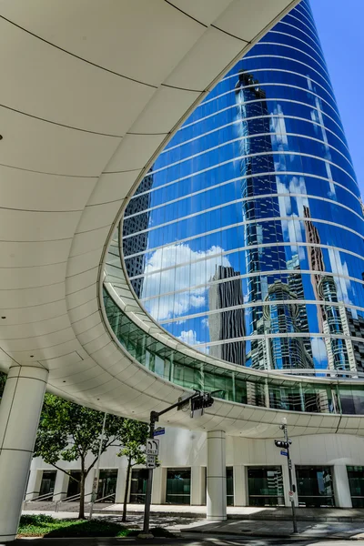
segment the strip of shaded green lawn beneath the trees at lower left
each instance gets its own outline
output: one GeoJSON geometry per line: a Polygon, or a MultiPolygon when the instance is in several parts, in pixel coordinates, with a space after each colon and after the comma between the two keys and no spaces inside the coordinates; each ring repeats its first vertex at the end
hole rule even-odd
{"type": "MultiPolygon", "coordinates": [[[[45,514],[25,515],[20,518],[19,537],[127,537],[136,536],[140,530],[129,529],[125,525],[105,520],[56,520],[45,514]]],[[[156,537],[172,533],[155,528],[151,532],[156,537]]]]}

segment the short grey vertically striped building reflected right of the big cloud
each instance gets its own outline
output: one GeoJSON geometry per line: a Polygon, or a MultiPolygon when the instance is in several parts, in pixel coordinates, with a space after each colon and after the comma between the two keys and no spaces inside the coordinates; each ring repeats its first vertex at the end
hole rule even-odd
{"type": "MultiPolygon", "coordinates": [[[[208,303],[211,311],[232,308],[244,303],[241,280],[225,280],[239,277],[239,271],[233,268],[217,266],[216,273],[208,291],[208,303]],[[222,281],[218,284],[216,281],[222,281]]],[[[208,318],[208,328],[211,341],[242,338],[245,336],[244,309],[232,308],[220,313],[213,313],[208,318]]],[[[217,359],[227,360],[235,364],[245,363],[245,341],[231,341],[221,345],[212,345],[209,354],[217,359]]]]}

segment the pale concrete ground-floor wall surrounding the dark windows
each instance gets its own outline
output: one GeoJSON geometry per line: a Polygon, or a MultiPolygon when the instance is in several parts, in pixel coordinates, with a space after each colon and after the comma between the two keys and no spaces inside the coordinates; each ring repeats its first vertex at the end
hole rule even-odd
{"type": "MultiPolygon", "coordinates": [[[[277,438],[280,438],[278,431],[277,438]]],[[[191,504],[204,504],[205,467],[207,464],[206,434],[195,430],[167,428],[166,434],[159,437],[161,468],[155,470],[153,497],[154,504],[166,499],[167,468],[191,469],[191,504]]],[[[116,456],[117,449],[111,448],[101,459],[100,469],[118,469],[116,502],[122,502],[126,483],[126,460],[116,456]]],[[[295,465],[325,465],[332,467],[333,486],[337,506],[350,507],[351,499],[346,467],[364,466],[364,439],[349,435],[318,435],[294,438],[291,446],[293,471],[295,465]]],[[[282,466],[286,504],[288,501],[287,459],[280,455],[273,440],[248,440],[246,438],[227,437],[227,466],[234,470],[234,501],[236,506],[248,504],[247,467],[282,466]]],[[[66,470],[77,470],[77,463],[60,462],[66,470]]],[[[38,494],[43,470],[55,470],[43,460],[32,462],[26,499],[38,494]]],[[[86,493],[92,490],[94,473],[86,480],[86,493]]],[[[57,472],[55,500],[66,496],[68,477],[57,472]]],[[[297,497],[296,497],[297,501],[297,497]]]]}

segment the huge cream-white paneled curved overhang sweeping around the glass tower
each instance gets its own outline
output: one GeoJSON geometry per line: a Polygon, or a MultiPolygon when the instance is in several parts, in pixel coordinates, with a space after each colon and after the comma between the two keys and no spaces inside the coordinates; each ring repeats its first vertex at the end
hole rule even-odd
{"type": "MultiPolygon", "coordinates": [[[[146,420],[187,391],[113,338],[99,298],[106,241],[177,127],[296,4],[1,3],[1,369],[44,367],[50,391],[146,420]]],[[[165,422],[267,438],[284,414],[218,400],[199,420],[176,411],[165,422]]],[[[339,414],[288,420],[296,434],[364,430],[339,414]]]]}

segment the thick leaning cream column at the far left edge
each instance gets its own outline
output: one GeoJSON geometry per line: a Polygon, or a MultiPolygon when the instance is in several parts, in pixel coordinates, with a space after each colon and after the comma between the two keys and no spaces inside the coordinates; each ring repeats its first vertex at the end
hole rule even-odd
{"type": "Polygon", "coordinates": [[[9,369],[0,406],[0,543],[15,540],[48,370],[9,369]]]}

